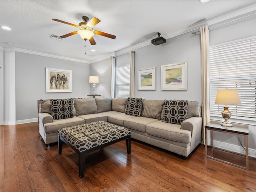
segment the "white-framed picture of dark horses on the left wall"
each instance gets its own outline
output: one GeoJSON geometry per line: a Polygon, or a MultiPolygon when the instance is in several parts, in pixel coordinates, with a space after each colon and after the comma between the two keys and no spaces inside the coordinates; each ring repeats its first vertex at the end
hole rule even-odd
{"type": "Polygon", "coordinates": [[[72,92],[72,70],[46,67],[46,93],[58,92],[72,92]]]}

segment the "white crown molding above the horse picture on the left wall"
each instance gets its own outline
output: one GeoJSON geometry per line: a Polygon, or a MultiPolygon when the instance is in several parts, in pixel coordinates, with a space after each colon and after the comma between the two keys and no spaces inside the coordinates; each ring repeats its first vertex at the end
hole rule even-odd
{"type": "Polygon", "coordinates": [[[20,49],[20,48],[15,48],[15,47],[14,48],[5,47],[4,51],[16,51],[16,52],[22,52],[22,53],[28,53],[28,54],[34,54],[34,55],[39,55],[39,56],[45,56],[45,57],[51,57],[51,58],[56,58],[56,59],[63,59],[63,60],[69,60],[69,61],[74,61],[74,62],[90,64],[90,62],[86,61],[86,60],[74,59],[74,58],[69,58],[69,57],[64,57],[64,56],[59,56],[59,55],[54,55],[54,54],[48,54],[48,53],[42,53],[42,52],[37,52],[37,51],[31,51],[31,50],[26,50],[26,49],[20,49]]]}

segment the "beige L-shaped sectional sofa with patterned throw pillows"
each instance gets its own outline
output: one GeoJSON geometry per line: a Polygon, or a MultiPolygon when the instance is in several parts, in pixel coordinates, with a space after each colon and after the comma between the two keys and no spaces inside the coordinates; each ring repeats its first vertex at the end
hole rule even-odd
{"type": "Polygon", "coordinates": [[[43,100],[38,108],[39,132],[46,144],[58,142],[60,128],[95,121],[129,128],[132,138],[183,157],[201,142],[202,118],[196,101],[77,98],[43,100]]]}

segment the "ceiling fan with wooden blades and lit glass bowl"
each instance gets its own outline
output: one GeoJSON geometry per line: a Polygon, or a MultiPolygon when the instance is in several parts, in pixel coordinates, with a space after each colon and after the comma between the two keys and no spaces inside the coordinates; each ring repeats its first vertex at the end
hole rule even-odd
{"type": "Polygon", "coordinates": [[[58,19],[52,19],[52,20],[79,28],[78,31],[73,31],[71,33],[60,36],[61,38],[66,38],[66,37],[69,37],[69,36],[72,36],[72,35],[78,33],[81,36],[81,38],[84,39],[85,41],[89,40],[91,45],[96,45],[96,42],[95,42],[94,38],[92,37],[94,34],[108,37],[111,39],[116,38],[115,35],[104,33],[101,31],[92,30],[92,28],[100,22],[100,20],[98,18],[92,17],[92,19],[89,21],[89,18],[87,16],[83,16],[82,19],[84,20],[84,22],[81,22],[78,25],[68,23],[68,22],[65,22],[62,20],[58,20],[58,19]]]}

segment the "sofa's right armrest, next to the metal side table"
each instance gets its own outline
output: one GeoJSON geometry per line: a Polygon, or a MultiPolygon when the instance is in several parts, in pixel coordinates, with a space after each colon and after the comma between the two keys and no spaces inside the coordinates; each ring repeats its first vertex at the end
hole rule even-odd
{"type": "Polygon", "coordinates": [[[201,142],[202,117],[190,117],[181,123],[181,129],[191,132],[190,152],[201,142]]]}

